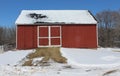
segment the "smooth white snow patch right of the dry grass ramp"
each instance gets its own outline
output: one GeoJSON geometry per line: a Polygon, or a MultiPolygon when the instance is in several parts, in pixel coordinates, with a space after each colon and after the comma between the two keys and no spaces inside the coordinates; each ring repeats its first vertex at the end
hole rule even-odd
{"type": "Polygon", "coordinates": [[[113,67],[120,64],[120,53],[112,50],[61,48],[62,55],[68,59],[68,64],[98,67],[113,67]]]}

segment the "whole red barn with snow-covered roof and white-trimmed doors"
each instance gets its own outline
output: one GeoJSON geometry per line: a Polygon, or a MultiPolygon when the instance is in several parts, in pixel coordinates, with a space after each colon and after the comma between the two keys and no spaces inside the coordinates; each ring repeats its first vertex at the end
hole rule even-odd
{"type": "Polygon", "coordinates": [[[97,21],[88,10],[23,10],[16,20],[17,49],[96,48],[97,21]]]}

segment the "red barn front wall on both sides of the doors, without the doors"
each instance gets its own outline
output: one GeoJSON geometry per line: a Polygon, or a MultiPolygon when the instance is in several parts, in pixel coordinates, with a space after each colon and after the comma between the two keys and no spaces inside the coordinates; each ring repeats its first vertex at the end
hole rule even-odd
{"type": "MultiPolygon", "coordinates": [[[[17,49],[32,49],[37,47],[37,26],[38,25],[17,25],[17,49]]],[[[97,47],[96,24],[64,24],[61,26],[62,47],[97,47]]],[[[55,31],[53,32],[55,33],[55,31]]],[[[54,35],[54,33],[52,35],[54,35]]],[[[53,43],[55,44],[56,41],[53,43]]]]}

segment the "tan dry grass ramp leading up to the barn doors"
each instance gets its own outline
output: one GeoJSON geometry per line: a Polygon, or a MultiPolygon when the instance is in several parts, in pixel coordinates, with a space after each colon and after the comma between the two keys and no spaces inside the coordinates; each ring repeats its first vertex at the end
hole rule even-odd
{"type": "Polygon", "coordinates": [[[54,60],[58,63],[66,63],[67,59],[62,57],[60,48],[58,47],[47,47],[47,48],[37,48],[34,53],[27,56],[29,61],[26,61],[24,66],[32,66],[32,60],[37,57],[44,57],[39,63],[48,62],[49,59],[54,60]]]}

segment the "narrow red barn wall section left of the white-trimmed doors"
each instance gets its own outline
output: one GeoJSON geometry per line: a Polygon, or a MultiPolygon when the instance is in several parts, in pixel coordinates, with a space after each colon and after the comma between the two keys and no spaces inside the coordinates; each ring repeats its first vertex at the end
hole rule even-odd
{"type": "Polygon", "coordinates": [[[31,49],[37,47],[37,26],[17,26],[17,49],[31,49]]]}

